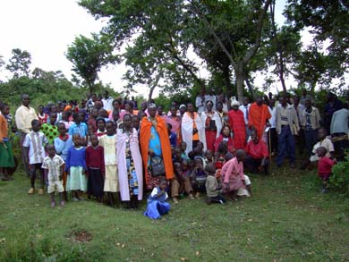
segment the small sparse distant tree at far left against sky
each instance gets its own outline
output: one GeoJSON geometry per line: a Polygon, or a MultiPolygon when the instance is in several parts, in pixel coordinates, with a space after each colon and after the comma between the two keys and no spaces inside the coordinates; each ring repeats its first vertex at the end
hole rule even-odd
{"type": "Polygon", "coordinates": [[[31,55],[28,51],[21,51],[20,48],[14,48],[12,51],[13,56],[10,58],[9,63],[6,65],[6,69],[13,72],[14,78],[21,76],[29,76],[31,55]]]}

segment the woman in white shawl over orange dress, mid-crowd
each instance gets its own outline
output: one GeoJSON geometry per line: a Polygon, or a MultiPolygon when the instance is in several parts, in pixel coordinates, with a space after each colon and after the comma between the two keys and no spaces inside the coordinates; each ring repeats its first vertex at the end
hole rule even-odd
{"type": "Polygon", "coordinates": [[[202,123],[198,113],[194,112],[192,103],[187,105],[188,111],[183,114],[182,119],[182,139],[187,144],[185,153],[188,154],[193,148],[196,148],[198,142],[202,142],[204,151],[206,151],[205,126],[202,123]]]}

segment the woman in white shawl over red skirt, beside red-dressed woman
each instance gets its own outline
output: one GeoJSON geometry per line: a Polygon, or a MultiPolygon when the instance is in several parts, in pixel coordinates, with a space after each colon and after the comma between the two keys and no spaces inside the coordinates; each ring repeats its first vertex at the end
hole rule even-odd
{"type": "Polygon", "coordinates": [[[201,113],[201,121],[205,125],[206,145],[211,151],[215,150],[215,141],[222,130],[219,114],[213,110],[213,102],[206,102],[206,110],[201,113]]]}

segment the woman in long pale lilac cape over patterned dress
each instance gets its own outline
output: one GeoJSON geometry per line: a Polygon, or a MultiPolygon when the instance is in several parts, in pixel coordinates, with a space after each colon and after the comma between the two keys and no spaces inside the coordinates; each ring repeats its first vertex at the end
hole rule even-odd
{"type": "Polygon", "coordinates": [[[137,207],[137,200],[143,196],[143,173],[138,133],[132,128],[131,114],[123,115],[123,128],[117,130],[116,152],[121,200],[131,201],[130,207],[137,207]]]}

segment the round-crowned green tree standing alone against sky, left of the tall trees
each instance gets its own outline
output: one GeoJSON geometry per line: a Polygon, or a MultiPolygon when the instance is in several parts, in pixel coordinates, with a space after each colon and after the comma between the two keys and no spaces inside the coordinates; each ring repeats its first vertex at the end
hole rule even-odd
{"type": "Polygon", "coordinates": [[[97,34],[92,34],[92,38],[77,37],[68,46],[66,57],[72,62],[72,71],[81,77],[82,85],[89,89],[89,93],[93,93],[102,66],[115,63],[117,57],[112,52],[113,47],[107,39],[97,34]]]}

